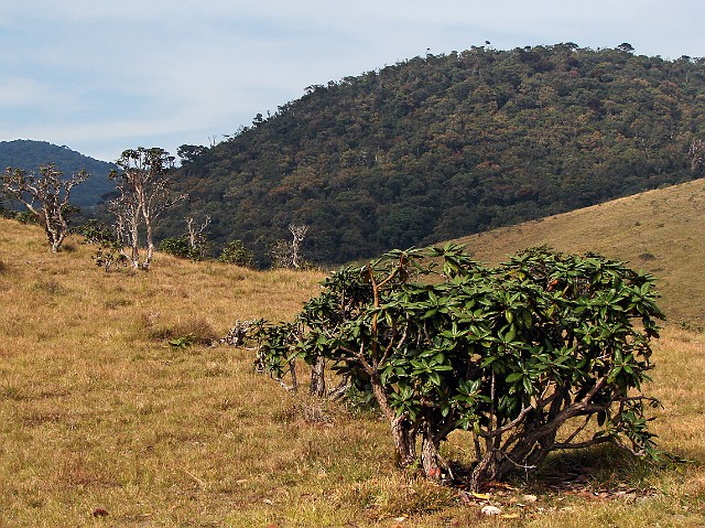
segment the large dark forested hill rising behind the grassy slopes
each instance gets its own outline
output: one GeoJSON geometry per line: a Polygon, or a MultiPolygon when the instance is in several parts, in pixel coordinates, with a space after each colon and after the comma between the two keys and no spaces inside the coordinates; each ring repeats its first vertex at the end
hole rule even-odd
{"type": "Polygon", "coordinates": [[[308,87],[215,147],[183,146],[176,180],[217,243],[262,256],[306,224],[307,256],[341,262],[699,177],[705,60],[473,47],[308,87]]]}

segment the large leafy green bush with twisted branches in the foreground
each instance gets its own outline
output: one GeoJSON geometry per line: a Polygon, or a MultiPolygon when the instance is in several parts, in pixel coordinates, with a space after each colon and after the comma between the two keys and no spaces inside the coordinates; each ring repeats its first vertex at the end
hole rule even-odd
{"type": "Polygon", "coordinates": [[[422,437],[432,478],[452,476],[440,443],[468,431],[478,488],[557,449],[658,454],[641,394],[657,297],[651,276],[593,254],[534,248],[486,269],[452,245],[395,250],[334,272],[295,323],[261,323],[260,366],[281,379],[325,358],[373,394],[403,464],[422,437]]]}

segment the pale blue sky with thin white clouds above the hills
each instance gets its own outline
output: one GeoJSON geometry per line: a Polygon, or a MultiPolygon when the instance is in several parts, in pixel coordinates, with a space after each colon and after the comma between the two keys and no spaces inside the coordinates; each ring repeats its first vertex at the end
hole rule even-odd
{"type": "Polygon", "coordinates": [[[0,141],[175,154],[307,86],[485,41],[703,57],[703,20],[705,0],[2,0],[0,141]]]}

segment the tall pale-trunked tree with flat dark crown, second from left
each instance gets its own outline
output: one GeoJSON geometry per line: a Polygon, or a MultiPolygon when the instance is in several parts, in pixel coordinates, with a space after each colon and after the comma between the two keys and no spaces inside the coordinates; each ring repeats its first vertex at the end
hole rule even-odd
{"type": "Polygon", "coordinates": [[[113,171],[110,177],[116,182],[120,196],[111,203],[117,217],[118,236],[129,243],[132,268],[148,270],[154,256],[153,228],[160,214],[186,197],[174,195],[171,181],[166,177],[174,158],[163,149],[126,150],[117,161],[122,172],[113,171]],[[144,226],[147,256],[140,262],[140,226],[144,226]]]}

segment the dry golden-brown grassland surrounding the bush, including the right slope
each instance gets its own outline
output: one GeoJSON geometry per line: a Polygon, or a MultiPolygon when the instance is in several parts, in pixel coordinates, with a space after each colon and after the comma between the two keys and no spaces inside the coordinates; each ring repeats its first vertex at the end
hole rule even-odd
{"type": "MultiPolygon", "coordinates": [[[[704,185],[688,185],[663,192],[705,200],[704,185]]],[[[630,200],[594,208],[589,220],[575,213],[484,234],[471,248],[488,261],[539,244],[643,261],[664,278],[666,310],[702,325],[704,287],[693,279],[702,260],[690,258],[702,248],[701,209],[658,194],[630,200]],[[621,204],[637,215],[617,224],[623,239],[600,219],[621,204]],[[581,222],[589,227],[578,233],[581,222]],[[687,237],[690,248],[676,247],[687,237]]],[[[557,455],[542,475],[482,499],[393,470],[378,417],[286,394],[252,371],[251,351],[207,344],[236,320],[291,317],[322,273],[163,255],[149,273],[106,273],[90,252],[72,239],[50,255],[39,229],[0,220],[2,528],[705,525],[698,332],[662,333],[647,389],[663,402],[653,424],[661,446],[688,463],[652,467],[610,450],[557,455]],[[188,334],[194,346],[169,345],[188,334]],[[488,502],[502,517],[480,517],[488,502]]],[[[452,438],[446,454],[469,452],[452,438]]]]}

